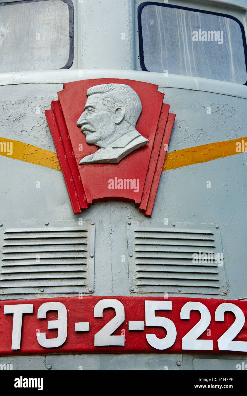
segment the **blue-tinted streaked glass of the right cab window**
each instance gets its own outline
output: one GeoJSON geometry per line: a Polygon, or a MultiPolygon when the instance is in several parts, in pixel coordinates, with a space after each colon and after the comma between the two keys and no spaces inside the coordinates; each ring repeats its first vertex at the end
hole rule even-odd
{"type": "Polygon", "coordinates": [[[245,84],[242,32],[231,18],[149,4],[141,12],[148,71],[245,84]]]}

